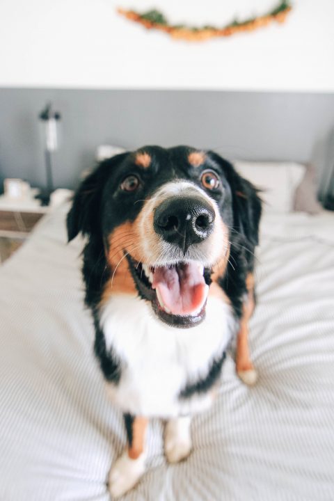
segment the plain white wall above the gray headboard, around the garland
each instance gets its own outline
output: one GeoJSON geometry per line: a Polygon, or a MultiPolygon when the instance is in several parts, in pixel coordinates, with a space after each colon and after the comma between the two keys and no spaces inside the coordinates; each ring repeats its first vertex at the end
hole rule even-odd
{"type": "Polygon", "coordinates": [[[175,22],[225,24],[276,3],[1,0],[0,86],[333,92],[333,0],[294,0],[283,26],[193,44],[116,14],[153,6],[175,22]]]}

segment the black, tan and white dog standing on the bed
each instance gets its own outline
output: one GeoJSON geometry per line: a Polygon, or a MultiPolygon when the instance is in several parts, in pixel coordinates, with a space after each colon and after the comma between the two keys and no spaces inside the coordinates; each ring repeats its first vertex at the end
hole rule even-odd
{"type": "Polygon", "coordinates": [[[237,374],[256,379],[248,351],[257,190],[212,151],[148,146],[103,161],[74,196],[69,240],[86,235],[86,304],[95,354],[128,447],[111,468],[114,496],[145,470],[150,417],[167,420],[165,453],[191,451],[191,415],[209,408],[237,335],[237,374]]]}

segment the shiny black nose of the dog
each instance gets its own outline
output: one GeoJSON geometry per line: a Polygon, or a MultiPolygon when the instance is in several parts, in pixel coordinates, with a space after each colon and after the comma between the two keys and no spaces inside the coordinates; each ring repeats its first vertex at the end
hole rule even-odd
{"type": "Polygon", "coordinates": [[[154,230],[186,253],[191,244],[209,237],[214,229],[214,209],[199,197],[177,196],[165,200],[154,212],[154,230]]]}

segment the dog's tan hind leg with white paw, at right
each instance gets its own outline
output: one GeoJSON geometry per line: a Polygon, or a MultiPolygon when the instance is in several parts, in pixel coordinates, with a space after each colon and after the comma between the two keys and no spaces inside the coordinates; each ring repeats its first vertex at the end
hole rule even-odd
{"type": "Polygon", "coordinates": [[[246,385],[253,385],[257,380],[257,372],[250,360],[248,346],[248,322],[255,308],[255,292],[253,273],[248,273],[246,278],[247,296],[242,308],[242,315],[237,334],[237,374],[246,385]]]}

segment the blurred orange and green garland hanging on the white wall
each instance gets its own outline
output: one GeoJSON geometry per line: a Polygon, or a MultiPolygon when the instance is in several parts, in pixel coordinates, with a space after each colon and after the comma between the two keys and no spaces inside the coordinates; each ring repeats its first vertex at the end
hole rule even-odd
{"type": "Polygon", "coordinates": [[[223,27],[218,26],[187,26],[186,24],[169,24],[168,20],[159,10],[148,10],[145,13],[138,13],[136,10],[125,10],[118,8],[118,13],[130,21],[138,22],[146,29],[157,29],[168,33],[176,40],[186,40],[187,42],[201,42],[209,38],[227,37],[242,33],[244,31],[254,31],[263,28],[272,22],[283,23],[287,15],[292,10],[292,6],[287,0],[280,0],[276,8],[269,13],[257,17],[251,17],[239,22],[237,19],[223,27]]]}

